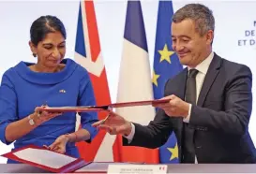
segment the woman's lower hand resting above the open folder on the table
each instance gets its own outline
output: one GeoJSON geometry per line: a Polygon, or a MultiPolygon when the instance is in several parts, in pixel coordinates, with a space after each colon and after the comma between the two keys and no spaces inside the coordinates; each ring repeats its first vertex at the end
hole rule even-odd
{"type": "Polygon", "coordinates": [[[54,151],[54,152],[60,152],[65,153],[66,152],[66,144],[68,143],[68,136],[62,135],[53,142],[50,146],[44,145],[45,148],[54,151]]]}

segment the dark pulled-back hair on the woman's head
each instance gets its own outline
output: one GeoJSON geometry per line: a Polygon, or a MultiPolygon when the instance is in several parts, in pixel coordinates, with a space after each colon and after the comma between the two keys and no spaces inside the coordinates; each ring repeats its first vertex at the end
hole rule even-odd
{"type": "Polygon", "coordinates": [[[47,34],[53,32],[60,32],[65,39],[67,37],[65,26],[57,17],[41,16],[31,25],[30,40],[35,46],[38,46],[38,42],[42,41],[47,34]]]}

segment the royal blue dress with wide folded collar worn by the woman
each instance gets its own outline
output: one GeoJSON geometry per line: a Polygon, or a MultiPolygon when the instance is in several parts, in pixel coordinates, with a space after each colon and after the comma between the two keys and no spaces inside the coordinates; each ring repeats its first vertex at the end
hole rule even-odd
{"type": "MultiPolygon", "coordinates": [[[[88,72],[71,59],[64,59],[62,64],[66,64],[62,71],[38,73],[28,67],[33,64],[21,62],[4,73],[0,87],[0,140],[3,143],[11,143],[5,138],[9,123],[27,117],[43,104],[50,107],[96,105],[88,72]]],[[[91,139],[95,138],[98,131],[91,124],[98,121],[97,113],[80,115],[83,129],[89,131],[91,139]]],[[[59,136],[74,132],[75,124],[76,113],[64,113],[17,139],[13,150],[29,144],[49,146],[59,136]]],[[[79,157],[74,143],[68,143],[66,151],[68,155],[79,157]]],[[[8,160],[8,163],[16,162],[8,160]]]]}

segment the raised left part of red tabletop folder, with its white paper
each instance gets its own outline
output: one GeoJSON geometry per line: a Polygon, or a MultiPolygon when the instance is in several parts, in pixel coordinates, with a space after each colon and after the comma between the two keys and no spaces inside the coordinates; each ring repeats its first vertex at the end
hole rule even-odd
{"type": "Polygon", "coordinates": [[[2,156],[55,173],[73,172],[89,164],[81,158],[74,158],[35,145],[25,146],[2,156]]]}

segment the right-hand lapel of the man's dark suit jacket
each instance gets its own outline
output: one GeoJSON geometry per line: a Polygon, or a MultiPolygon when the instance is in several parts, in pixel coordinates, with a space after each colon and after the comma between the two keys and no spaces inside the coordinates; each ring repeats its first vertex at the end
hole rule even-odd
{"type": "Polygon", "coordinates": [[[214,80],[216,79],[219,71],[219,67],[221,65],[221,58],[218,57],[217,54],[214,55],[214,58],[208,68],[208,71],[203,80],[203,86],[201,92],[198,97],[197,106],[203,107],[203,102],[205,100],[206,95],[208,94],[214,80]]]}

